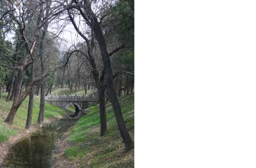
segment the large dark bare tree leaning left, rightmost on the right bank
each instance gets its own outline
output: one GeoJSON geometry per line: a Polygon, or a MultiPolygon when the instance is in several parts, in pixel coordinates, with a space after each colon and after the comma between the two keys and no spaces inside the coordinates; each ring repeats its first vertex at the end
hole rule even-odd
{"type": "MultiPolygon", "coordinates": [[[[91,1],[92,2],[92,1],[91,1]]],[[[129,151],[133,148],[133,142],[131,140],[131,137],[129,135],[129,132],[126,129],[125,120],[123,119],[121,107],[118,101],[118,96],[115,92],[115,88],[113,86],[113,72],[111,68],[111,60],[109,57],[111,54],[115,52],[110,52],[109,54],[104,38],[104,34],[102,32],[101,26],[99,25],[98,17],[95,15],[93,10],[91,9],[91,2],[89,1],[82,1],[79,2],[77,0],[72,0],[69,5],[67,6],[75,6],[74,10],[77,10],[81,16],[83,17],[84,21],[91,27],[91,30],[94,32],[93,35],[95,35],[95,39],[98,41],[99,49],[101,52],[102,62],[104,65],[104,69],[101,72],[101,76],[99,74],[95,74],[94,76],[98,75],[98,92],[99,94],[104,94],[104,90],[106,89],[106,94],[109,98],[109,100],[112,103],[113,110],[115,112],[116,121],[118,123],[120,134],[123,138],[123,141],[125,143],[126,150],[129,151]],[[102,90],[101,90],[102,89],[102,90]]],[[[69,10],[68,10],[69,12],[69,10]]],[[[72,17],[69,12],[69,18],[72,21],[72,17]]],[[[72,21],[74,28],[76,31],[85,39],[87,46],[89,43],[88,39],[78,30],[77,26],[75,25],[74,21],[72,21]]],[[[87,51],[90,51],[89,49],[87,51]]],[[[90,56],[88,54],[88,56],[90,56]]],[[[90,58],[90,57],[89,57],[90,58]]],[[[93,65],[92,65],[93,67],[93,65]]],[[[100,98],[101,96],[99,96],[100,98]]]]}

